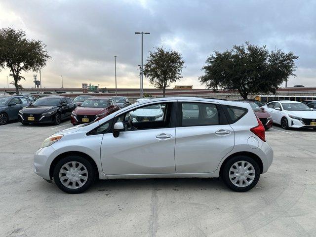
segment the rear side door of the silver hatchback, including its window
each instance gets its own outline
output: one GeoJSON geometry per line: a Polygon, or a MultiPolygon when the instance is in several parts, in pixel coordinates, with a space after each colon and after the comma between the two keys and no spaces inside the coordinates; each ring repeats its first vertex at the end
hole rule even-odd
{"type": "Polygon", "coordinates": [[[234,130],[219,104],[179,102],[175,164],[177,173],[209,173],[235,144],[234,130]]]}

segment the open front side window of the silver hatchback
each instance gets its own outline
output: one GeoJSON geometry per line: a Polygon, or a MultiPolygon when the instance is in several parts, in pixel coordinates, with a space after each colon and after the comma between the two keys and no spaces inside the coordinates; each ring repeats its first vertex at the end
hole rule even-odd
{"type": "Polygon", "coordinates": [[[151,129],[170,126],[172,103],[144,106],[117,117],[125,124],[126,130],[151,129]]]}

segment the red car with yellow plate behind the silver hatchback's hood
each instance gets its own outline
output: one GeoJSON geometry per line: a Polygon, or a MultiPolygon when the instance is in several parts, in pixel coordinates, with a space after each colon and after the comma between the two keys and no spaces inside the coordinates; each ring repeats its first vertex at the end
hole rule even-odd
{"type": "Polygon", "coordinates": [[[71,123],[94,122],[119,110],[117,103],[108,97],[91,97],[71,114],[71,123]]]}

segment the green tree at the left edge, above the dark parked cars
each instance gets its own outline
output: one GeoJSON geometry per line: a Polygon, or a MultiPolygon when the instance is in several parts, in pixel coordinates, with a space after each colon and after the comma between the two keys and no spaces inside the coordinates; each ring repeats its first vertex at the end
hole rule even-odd
{"type": "Polygon", "coordinates": [[[19,81],[25,79],[21,72],[36,72],[51,58],[45,48],[40,40],[26,39],[23,30],[0,29],[0,69],[10,69],[16,94],[19,94],[19,81]]]}

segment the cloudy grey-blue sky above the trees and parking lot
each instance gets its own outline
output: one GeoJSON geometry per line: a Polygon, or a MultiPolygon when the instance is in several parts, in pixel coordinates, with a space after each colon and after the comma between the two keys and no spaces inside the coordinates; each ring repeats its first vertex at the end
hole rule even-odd
{"type": "MultiPolygon", "coordinates": [[[[43,87],[61,87],[61,75],[64,87],[114,87],[114,55],[118,88],[138,87],[136,31],[150,32],[145,58],[160,45],[181,52],[180,83],[194,88],[203,88],[198,76],[208,55],[244,41],[293,51],[300,58],[288,85],[316,86],[315,12],[315,0],[0,0],[0,28],[21,28],[47,45],[52,60],[42,70],[43,87]]],[[[8,74],[0,72],[1,88],[8,74]]],[[[33,86],[33,74],[23,74],[24,87],[33,86]]]]}

